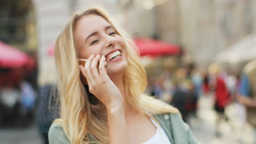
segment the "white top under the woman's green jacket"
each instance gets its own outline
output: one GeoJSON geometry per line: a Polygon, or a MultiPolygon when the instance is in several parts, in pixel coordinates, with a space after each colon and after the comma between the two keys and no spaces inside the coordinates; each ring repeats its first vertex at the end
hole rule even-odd
{"type": "Polygon", "coordinates": [[[165,134],[164,129],[162,129],[162,127],[158,123],[156,123],[153,119],[150,118],[150,120],[156,127],[156,133],[148,141],[143,142],[142,144],[171,144],[170,140],[165,134]]]}

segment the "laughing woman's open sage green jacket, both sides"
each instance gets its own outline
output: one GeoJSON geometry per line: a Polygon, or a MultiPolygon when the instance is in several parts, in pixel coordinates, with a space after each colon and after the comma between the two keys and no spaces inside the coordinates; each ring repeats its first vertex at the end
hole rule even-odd
{"type": "MultiPolygon", "coordinates": [[[[153,116],[165,130],[171,144],[197,143],[188,124],[183,122],[178,113],[161,113],[153,116]]],[[[91,137],[89,139],[91,140],[91,137]]],[[[57,123],[50,127],[49,142],[50,144],[70,144],[63,128],[57,123]]]]}

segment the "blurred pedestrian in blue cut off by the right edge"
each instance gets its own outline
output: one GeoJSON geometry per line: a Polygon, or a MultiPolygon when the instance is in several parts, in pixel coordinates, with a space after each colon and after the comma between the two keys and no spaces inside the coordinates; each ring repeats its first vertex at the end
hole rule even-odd
{"type": "Polygon", "coordinates": [[[240,81],[240,101],[246,107],[247,121],[254,128],[254,143],[256,143],[256,59],[249,62],[243,69],[240,81]]]}

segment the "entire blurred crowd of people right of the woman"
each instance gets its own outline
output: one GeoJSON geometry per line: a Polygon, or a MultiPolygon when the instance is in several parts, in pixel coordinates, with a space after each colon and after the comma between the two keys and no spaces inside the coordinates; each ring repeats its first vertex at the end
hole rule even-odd
{"type": "Polygon", "coordinates": [[[245,125],[247,119],[255,129],[256,100],[253,77],[256,73],[254,70],[256,69],[255,60],[240,71],[223,69],[219,64],[211,64],[205,71],[196,70],[191,66],[193,64],[177,69],[173,79],[156,77],[154,81],[150,81],[148,92],[177,107],[182,113],[184,121],[188,123],[191,116],[197,117],[198,100],[212,94],[214,100],[212,107],[217,114],[217,137],[222,136],[220,123],[229,121],[225,112],[225,108],[229,104],[236,105],[237,121],[241,121],[245,125]]]}

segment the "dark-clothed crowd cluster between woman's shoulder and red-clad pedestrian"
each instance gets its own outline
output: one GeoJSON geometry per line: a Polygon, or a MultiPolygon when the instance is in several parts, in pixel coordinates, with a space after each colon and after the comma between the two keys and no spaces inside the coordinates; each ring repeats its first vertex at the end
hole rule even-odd
{"type": "Polygon", "coordinates": [[[182,118],[196,117],[197,101],[201,97],[203,77],[193,64],[179,68],[171,79],[155,77],[149,82],[147,92],[179,109],[182,118]]]}

